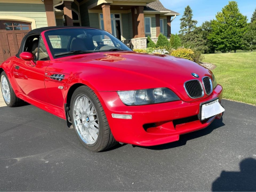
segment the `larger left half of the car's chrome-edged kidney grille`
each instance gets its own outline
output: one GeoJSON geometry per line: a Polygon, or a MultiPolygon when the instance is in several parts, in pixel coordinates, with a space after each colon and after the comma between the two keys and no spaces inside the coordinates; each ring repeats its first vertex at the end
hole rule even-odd
{"type": "Polygon", "coordinates": [[[187,81],[184,84],[185,90],[188,96],[192,99],[200,98],[204,96],[204,90],[202,84],[198,80],[187,81]]]}

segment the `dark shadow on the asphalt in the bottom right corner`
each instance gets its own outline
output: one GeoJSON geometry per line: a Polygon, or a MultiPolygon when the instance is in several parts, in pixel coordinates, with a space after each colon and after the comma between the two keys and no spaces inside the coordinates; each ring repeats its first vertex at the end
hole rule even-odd
{"type": "Polygon", "coordinates": [[[223,170],[212,183],[212,191],[256,191],[256,159],[243,159],[240,172],[223,170]]]}

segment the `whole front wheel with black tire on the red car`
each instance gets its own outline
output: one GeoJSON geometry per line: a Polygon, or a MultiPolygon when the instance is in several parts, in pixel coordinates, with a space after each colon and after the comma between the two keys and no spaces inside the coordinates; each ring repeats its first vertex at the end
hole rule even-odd
{"type": "Polygon", "coordinates": [[[73,127],[85,148],[100,152],[116,145],[104,109],[93,90],[88,86],[77,88],[70,106],[73,127]]]}

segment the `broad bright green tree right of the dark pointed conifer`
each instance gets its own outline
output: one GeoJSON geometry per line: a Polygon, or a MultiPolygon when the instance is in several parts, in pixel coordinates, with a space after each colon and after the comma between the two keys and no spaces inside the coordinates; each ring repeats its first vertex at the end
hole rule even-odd
{"type": "Polygon", "coordinates": [[[236,1],[230,1],[212,20],[212,32],[209,40],[216,50],[227,52],[242,47],[242,38],[246,32],[247,17],[239,12],[236,1]]]}

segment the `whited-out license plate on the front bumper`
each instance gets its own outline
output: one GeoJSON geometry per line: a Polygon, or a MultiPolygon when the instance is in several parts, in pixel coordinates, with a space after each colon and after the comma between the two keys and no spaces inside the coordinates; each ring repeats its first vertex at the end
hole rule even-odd
{"type": "Polygon", "coordinates": [[[225,109],[220,105],[219,99],[202,103],[200,105],[200,119],[205,120],[211,116],[223,113],[225,109]]]}

